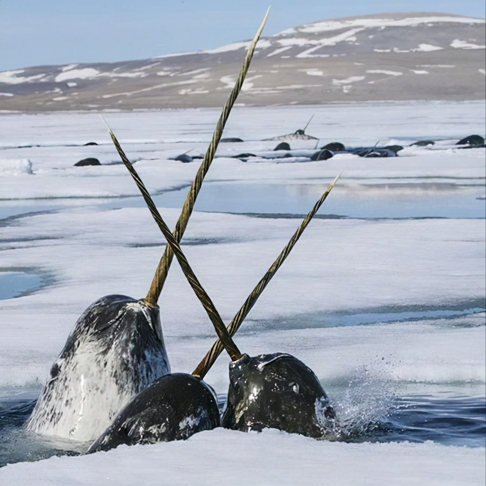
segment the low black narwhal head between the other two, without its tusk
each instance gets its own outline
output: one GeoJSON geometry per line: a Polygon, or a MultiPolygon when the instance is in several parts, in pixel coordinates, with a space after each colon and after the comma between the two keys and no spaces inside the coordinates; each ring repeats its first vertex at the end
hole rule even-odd
{"type": "Polygon", "coordinates": [[[89,447],[107,451],[120,444],[184,440],[220,425],[212,388],[186,373],[166,375],[142,390],[89,447]]]}

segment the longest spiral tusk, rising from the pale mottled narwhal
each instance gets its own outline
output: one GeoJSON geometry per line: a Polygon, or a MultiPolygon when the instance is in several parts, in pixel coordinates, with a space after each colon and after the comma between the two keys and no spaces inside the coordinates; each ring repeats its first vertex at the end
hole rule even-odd
{"type": "MultiPolygon", "coordinates": [[[[229,98],[226,101],[226,104],[223,108],[221,116],[214,130],[211,142],[208,146],[208,150],[206,151],[206,155],[203,158],[201,166],[199,167],[196,177],[194,178],[194,182],[191,185],[191,189],[188,192],[186,201],[184,202],[184,206],[182,207],[181,215],[179,217],[179,220],[177,221],[177,224],[175,225],[175,229],[173,233],[174,239],[175,241],[177,241],[177,243],[180,243],[182,236],[184,235],[184,231],[186,230],[186,226],[191,216],[192,209],[194,208],[197,194],[201,189],[201,185],[203,183],[204,177],[207,174],[209,166],[211,165],[211,162],[216,153],[216,149],[218,147],[219,140],[223,135],[223,129],[225,128],[225,124],[226,121],[228,120],[231,108],[233,107],[233,104],[235,103],[236,98],[243,86],[243,81],[245,79],[246,73],[248,72],[248,68],[250,67],[251,58],[253,57],[253,53],[255,52],[257,42],[265,26],[265,22],[267,20],[269,11],[270,11],[270,7],[268,7],[265,17],[263,17],[263,21],[261,22],[261,25],[257,33],[255,34],[255,37],[253,38],[250,47],[248,48],[248,52],[246,53],[245,58],[243,60],[243,66],[240,71],[238,80],[236,81],[235,86],[233,87],[233,90],[231,91],[231,94],[229,95],[229,98]]],[[[157,300],[160,297],[160,293],[162,292],[165,279],[167,278],[167,274],[169,272],[169,268],[171,266],[173,258],[174,258],[174,253],[172,251],[171,246],[168,245],[166,246],[164,254],[162,255],[162,258],[157,266],[156,273],[152,280],[152,284],[147,293],[147,296],[145,297],[145,300],[147,302],[153,305],[157,303],[157,300]]]]}

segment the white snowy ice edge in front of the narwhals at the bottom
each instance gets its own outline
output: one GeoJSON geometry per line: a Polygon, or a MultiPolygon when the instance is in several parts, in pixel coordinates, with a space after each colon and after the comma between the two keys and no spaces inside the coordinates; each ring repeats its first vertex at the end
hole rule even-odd
{"type": "Polygon", "coordinates": [[[2,485],[481,485],[484,449],[343,444],[264,431],[216,429],[186,441],[120,446],[0,469],[2,485]],[[384,461],[386,463],[384,464],[384,461]],[[478,464],[480,465],[478,467],[478,464]]]}

